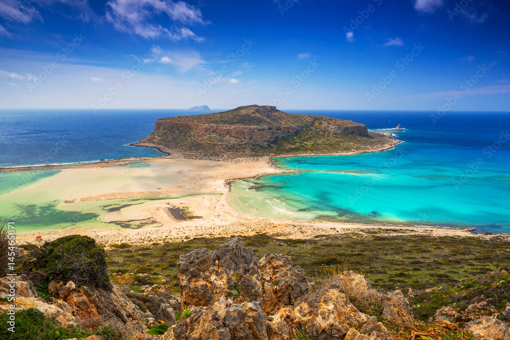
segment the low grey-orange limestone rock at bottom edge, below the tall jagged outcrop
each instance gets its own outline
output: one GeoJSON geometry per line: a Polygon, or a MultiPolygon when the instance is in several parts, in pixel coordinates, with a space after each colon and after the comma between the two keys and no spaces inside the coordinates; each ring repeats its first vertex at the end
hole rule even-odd
{"type": "Polygon", "coordinates": [[[258,303],[235,304],[221,300],[212,306],[190,309],[161,340],[267,340],[266,315],[258,303]]]}

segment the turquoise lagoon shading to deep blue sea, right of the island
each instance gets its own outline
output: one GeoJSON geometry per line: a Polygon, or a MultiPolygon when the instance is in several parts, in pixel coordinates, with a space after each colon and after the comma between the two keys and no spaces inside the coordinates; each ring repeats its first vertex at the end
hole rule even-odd
{"type": "Polygon", "coordinates": [[[510,232],[508,114],[452,114],[439,126],[428,114],[384,115],[372,126],[402,121],[405,130],[383,130],[404,143],[377,153],[276,159],[304,172],[237,182],[233,196],[244,204],[235,207],[271,217],[510,232]]]}

